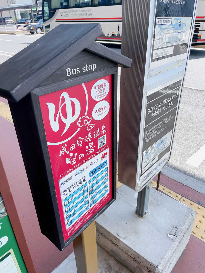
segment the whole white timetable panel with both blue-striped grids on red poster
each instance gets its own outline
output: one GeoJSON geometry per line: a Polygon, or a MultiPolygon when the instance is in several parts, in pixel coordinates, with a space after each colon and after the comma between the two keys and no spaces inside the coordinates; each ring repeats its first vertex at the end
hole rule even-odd
{"type": "MultiPolygon", "coordinates": [[[[97,157],[95,157],[95,161],[99,162],[97,157]]],[[[62,202],[67,229],[109,192],[109,165],[107,160],[101,164],[98,163],[99,165],[96,164],[95,168],[89,166],[89,163],[84,164],[85,167],[81,166],[59,181],[61,189],[65,189],[62,192],[62,196],[64,196],[62,202]],[[89,168],[92,168],[91,171],[89,168]],[[77,182],[77,180],[79,181],[77,182]]]]}

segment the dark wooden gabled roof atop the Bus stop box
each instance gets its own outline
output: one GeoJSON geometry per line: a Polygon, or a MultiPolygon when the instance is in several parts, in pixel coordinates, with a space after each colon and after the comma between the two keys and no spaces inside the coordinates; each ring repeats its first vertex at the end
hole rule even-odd
{"type": "Polygon", "coordinates": [[[18,102],[82,50],[130,67],[131,60],[94,42],[100,24],[60,24],[0,65],[0,96],[18,102]]]}

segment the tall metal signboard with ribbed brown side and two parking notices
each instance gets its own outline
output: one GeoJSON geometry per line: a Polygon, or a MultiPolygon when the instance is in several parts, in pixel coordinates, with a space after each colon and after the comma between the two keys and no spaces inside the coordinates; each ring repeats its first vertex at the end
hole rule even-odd
{"type": "Polygon", "coordinates": [[[136,24],[130,29],[124,20],[122,54],[135,61],[129,73],[122,69],[121,74],[118,179],[137,192],[171,156],[196,4],[150,0],[140,5],[128,0],[124,8],[124,18],[132,13],[136,24]],[[130,50],[133,40],[135,50],[130,50]]]}

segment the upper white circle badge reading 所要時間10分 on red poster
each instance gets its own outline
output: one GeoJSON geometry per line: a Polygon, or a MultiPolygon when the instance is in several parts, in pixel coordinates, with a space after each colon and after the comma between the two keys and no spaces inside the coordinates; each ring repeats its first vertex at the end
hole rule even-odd
{"type": "Polygon", "coordinates": [[[91,89],[91,96],[93,100],[102,100],[104,99],[110,89],[109,82],[101,79],[99,81],[96,81],[95,84],[93,84],[93,87],[91,89]]]}

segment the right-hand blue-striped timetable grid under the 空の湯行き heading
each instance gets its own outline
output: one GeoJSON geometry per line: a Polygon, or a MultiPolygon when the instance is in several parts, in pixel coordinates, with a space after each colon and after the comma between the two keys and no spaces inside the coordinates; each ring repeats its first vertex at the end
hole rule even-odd
{"type": "MultiPolygon", "coordinates": [[[[107,161],[105,165],[107,165],[107,161]]],[[[92,207],[104,195],[106,195],[108,191],[108,168],[106,167],[101,169],[99,173],[97,173],[89,180],[90,206],[92,207]]]]}

